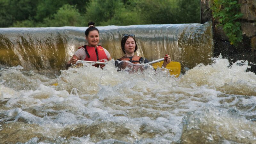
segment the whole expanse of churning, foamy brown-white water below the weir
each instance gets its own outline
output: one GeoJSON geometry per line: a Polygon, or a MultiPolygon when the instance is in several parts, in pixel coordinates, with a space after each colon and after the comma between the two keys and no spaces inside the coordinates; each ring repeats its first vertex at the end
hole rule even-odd
{"type": "Polygon", "coordinates": [[[255,143],[255,74],[245,72],[246,62],[230,67],[226,59],[213,60],[179,78],[164,69],[117,72],[114,61],[104,69],[84,64],[62,70],[57,79],[27,75],[17,68],[2,70],[0,139],[13,143],[255,143]],[[7,75],[8,70],[12,75],[7,75]],[[31,84],[20,83],[17,89],[19,76],[31,84]],[[52,86],[54,82],[58,86],[52,86]]]}

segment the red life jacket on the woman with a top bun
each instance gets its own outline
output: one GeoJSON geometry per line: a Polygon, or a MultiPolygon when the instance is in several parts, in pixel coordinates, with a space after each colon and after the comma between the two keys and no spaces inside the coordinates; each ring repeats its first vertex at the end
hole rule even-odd
{"type": "MultiPolygon", "coordinates": [[[[87,61],[100,61],[100,62],[105,62],[108,61],[108,57],[101,45],[98,45],[96,48],[93,46],[87,46],[84,45],[82,46],[85,49],[86,57],[84,60],[87,61]]],[[[82,48],[79,47],[78,49],[82,48]]],[[[94,64],[93,66],[98,67],[98,64],[94,64]]],[[[100,65],[100,68],[103,68],[104,65],[100,65]]]]}

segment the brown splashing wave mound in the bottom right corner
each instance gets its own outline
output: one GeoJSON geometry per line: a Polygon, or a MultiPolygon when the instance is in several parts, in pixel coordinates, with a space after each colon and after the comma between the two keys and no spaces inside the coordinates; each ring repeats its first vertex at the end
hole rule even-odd
{"type": "Polygon", "coordinates": [[[236,108],[205,108],[191,112],[183,119],[183,143],[255,143],[256,124],[239,116],[236,108]],[[191,139],[191,135],[197,139],[191,139]]]}

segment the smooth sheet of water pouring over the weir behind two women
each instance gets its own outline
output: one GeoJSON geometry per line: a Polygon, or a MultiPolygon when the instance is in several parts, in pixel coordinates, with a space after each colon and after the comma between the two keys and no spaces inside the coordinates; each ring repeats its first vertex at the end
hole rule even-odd
{"type": "MultiPolygon", "coordinates": [[[[148,60],[170,54],[182,68],[208,64],[213,56],[212,26],[165,24],[97,27],[100,44],[112,58],[123,56],[122,34],[135,34],[137,54],[148,60]]],[[[78,47],[85,44],[85,27],[0,28],[0,63],[25,69],[60,70],[78,47]]]]}

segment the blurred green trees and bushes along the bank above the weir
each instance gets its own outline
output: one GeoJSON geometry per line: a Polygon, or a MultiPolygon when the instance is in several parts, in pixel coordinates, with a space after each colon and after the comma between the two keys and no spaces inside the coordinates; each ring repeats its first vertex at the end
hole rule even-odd
{"type": "Polygon", "coordinates": [[[199,0],[0,0],[0,27],[199,23],[199,0]]]}

